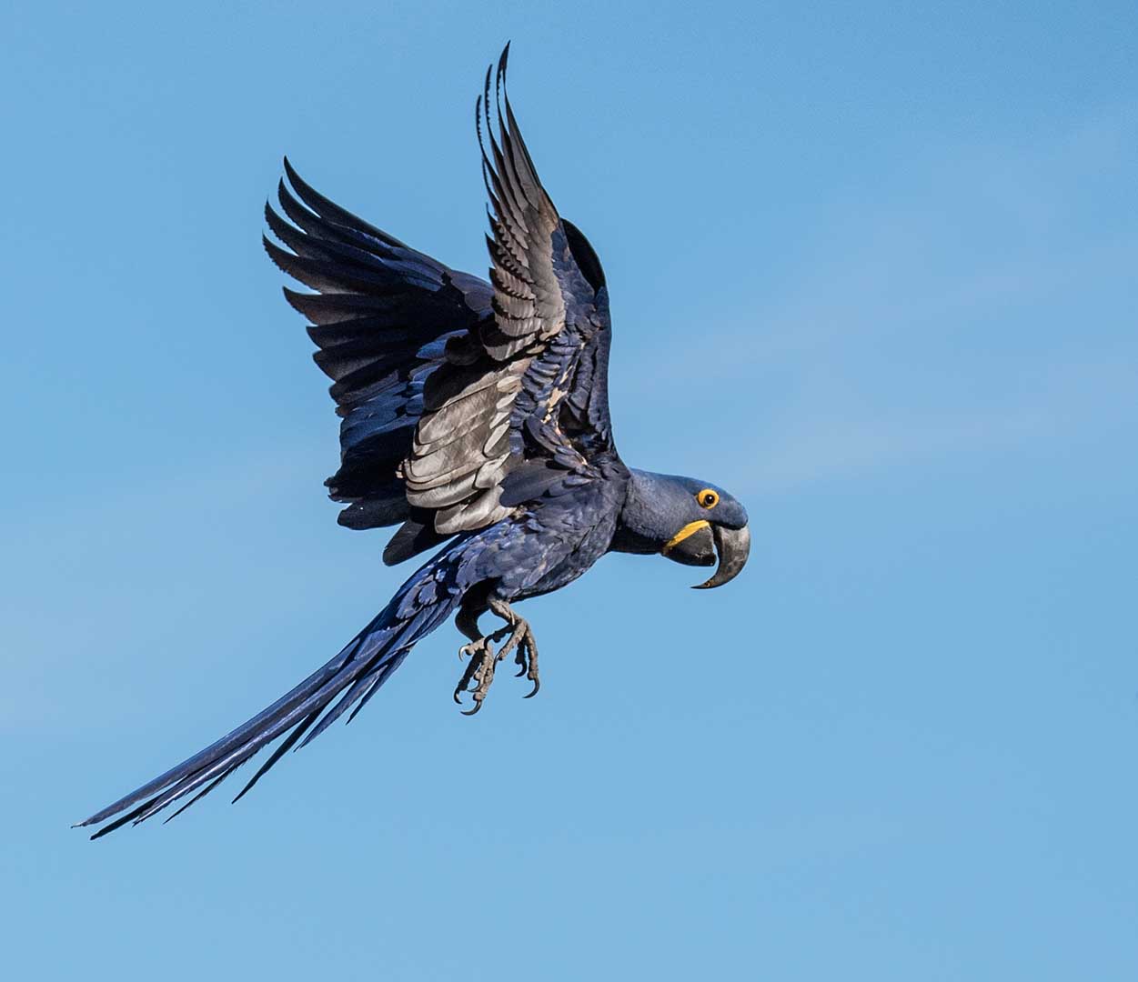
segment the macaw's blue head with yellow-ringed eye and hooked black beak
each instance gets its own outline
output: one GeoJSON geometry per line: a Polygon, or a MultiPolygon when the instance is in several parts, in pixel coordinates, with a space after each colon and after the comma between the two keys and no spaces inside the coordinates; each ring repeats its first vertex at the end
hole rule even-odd
{"type": "Polygon", "coordinates": [[[718,556],[719,568],[695,588],[723,586],[751,551],[747,509],[717,485],[634,470],[612,548],[658,552],[684,566],[715,566],[718,556]]]}

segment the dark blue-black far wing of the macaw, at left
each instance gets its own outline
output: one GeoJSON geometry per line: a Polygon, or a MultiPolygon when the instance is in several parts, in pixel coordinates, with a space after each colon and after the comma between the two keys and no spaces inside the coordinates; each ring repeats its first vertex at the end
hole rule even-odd
{"type": "Polygon", "coordinates": [[[311,324],[313,356],[332,380],[340,469],[325,484],[348,528],[395,525],[411,515],[396,471],[422,414],[423,382],[448,338],[493,320],[490,284],[459,273],[356,217],[315,191],[284,160],[278,200],[265,205],[270,258],[319,292],[284,297],[311,324]],[[290,187],[291,185],[291,189],[290,187]]]}

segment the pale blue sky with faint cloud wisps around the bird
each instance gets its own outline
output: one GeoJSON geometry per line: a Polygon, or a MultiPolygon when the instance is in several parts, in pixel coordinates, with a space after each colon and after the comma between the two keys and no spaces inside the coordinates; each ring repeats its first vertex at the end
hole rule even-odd
{"type": "Polygon", "coordinates": [[[11,979],[1138,979],[1138,13],[1127,2],[8,6],[11,979]],[[237,807],[68,824],[349,638],[307,180],[483,272],[511,90],[612,292],[633,464],[745,573],[603,560],[544,686],[424,642],[237,807]]]}

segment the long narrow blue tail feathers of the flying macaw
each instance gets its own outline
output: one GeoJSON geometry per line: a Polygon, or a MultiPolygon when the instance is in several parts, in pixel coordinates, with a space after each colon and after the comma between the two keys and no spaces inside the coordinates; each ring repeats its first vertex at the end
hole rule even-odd
{"type": "MultiPolygon", "coordinates": [[[[391,602],[345,649],[272,705],[232,733],[165,774],[143,784],[79,825],[98,825],[113,816],[91,839],[114,832],[127,822],[135,825],[175,801],[193,794],[170,818],[213,791],[259,750],[288,734],[233,800],[241,798],[280,758],[303,738],[319,736],[345,710],[352,717],[399,667],[411,647],[430,634],[457,608],[461,591],[454,584],[454,547],[444,550],[420,568],[391,602]],[[125,812],[125,814],[119,814],[125,812]]],[[[167,819],[170,820],[170,819],[167,819]]]]}

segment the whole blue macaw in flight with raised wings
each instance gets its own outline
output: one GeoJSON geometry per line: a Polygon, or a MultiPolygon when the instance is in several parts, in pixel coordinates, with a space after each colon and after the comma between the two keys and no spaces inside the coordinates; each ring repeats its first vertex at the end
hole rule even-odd
{"type": "Polygon", "coordinates": [[[476,105],[489,282],[335,205],[287,159],[284,216],[265,206],[269,229],[288,247],[265,238],[270,257],[315,290],[284,296],[312,322],[314,357],[343,419],[341,465],[327,481],[347,504],[339,523],[398,525],[384,551],[388,564],[445,545],[331,661],[80,823],[106,823],[92,839],[192,794],[178,815],[283,736],[240,798],[289,749],[346,710],[358,712],[452,616],[469,638],[454,699],[468,694],[472,715],[506,655],[533,684],[529,695],[537,692],[537,644],[518,601],[567,586],[608,552],[704,567],[718,558],[699,588],[727,583],[747,562],[747,511],[734,497],[710,481],[635,470],[617,453],[604,273],[537,178],[505,92],[509,50],[487,69],[476,105]],[[484,632],[487,612],[504,625],[484,632]]]}

